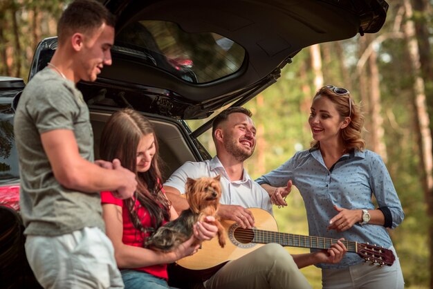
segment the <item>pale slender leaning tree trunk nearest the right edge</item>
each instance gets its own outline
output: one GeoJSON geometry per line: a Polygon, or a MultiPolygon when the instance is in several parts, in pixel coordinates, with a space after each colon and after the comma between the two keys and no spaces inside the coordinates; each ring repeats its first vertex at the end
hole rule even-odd
{"type": "Polygon", "coordinates": [[[409,53],[409,62],[412,68],[412,75],[414,75],[414,111],[416,121],[416,135],[418,143],[421,146],[419,149],[419,160],[421,166],[421,183],[424,188],[425,203],[427,204],[427,216],[430,218],[428,234],[429,234],[429,248],[430,248],[430,288],[433,288],[433,225],[431,218],[433,216],[432,204],[432,188],[433,188],[433,156],[432,156],[432,134],[430,131],[430,119],[425,109],[425,88],[424,80],[421,77],[421,63],[418,50],[418,41],[415,35],[415,25],[412,21],[413,12],[412,5],[409,0],[403,0],[406,12],[406,24],[403,26],[405,38],[407,39],[407,50],[409,53]]]}

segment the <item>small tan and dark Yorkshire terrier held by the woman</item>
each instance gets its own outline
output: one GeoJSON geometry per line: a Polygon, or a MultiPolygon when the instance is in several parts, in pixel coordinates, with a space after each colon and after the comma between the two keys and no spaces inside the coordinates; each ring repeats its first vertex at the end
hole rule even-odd
{"type": "Polygon", "coordinates": [[[221,248],[225,245],[225,230],[216,216],[221,198],[221,176],[214,178],[187,178],[185,194],[190,209],[185,209],[174,221],[165,223],[149,236],[145,245],[147,248],[169,252],[181,243],[190,239],[193,226],[197,221],[203,221],[206,216],[214,216],[214,225],[218,227],[218,242],[221,248]]]}

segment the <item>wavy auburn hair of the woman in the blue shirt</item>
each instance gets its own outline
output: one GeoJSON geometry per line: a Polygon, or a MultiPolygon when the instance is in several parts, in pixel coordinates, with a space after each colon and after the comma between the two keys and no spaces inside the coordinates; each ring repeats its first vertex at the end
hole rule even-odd
{"type": "MultiPolygon", "coordinates": [[[[361,132],[362,129],[364,129],[364,115],[362,114],[360,105],[353,101],[350,93],[339,95],[334,93],[331,88],[323,86],[315,93],[313,101],[317,97],[327,97],[331,100],[341,120],[350,117],[349,125],[340,130],[340,141],[344,146],[345,152],[348,153],[353,149],[363,151],[365,149],[365,140],[362,139],[361,132]]],[[[311,148],[319,149],[320,142],[313,140],[311,142],[311,148]]]]}

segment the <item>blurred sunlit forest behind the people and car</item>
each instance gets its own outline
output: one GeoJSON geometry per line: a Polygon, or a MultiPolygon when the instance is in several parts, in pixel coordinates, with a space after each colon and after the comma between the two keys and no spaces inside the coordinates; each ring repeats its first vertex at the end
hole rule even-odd
{"type": "MultiPolygon", "coordinates": [[[[27,79],[37,43],[56,34],[56,20],[68,2],[0,0],[0,75],[27,79]]],[[[307,149],[316,89],[326,84],[347,88],[365,111],[367,149],[385,160],[405,211],[403,223],[389,232],[405,287],[433,288],[433,0],[387,3],[387,21],[378,33],[304,48],[276,84],[246,104],[258,132],[246,167],[256,178],[307,149]]],[[[210,133],[200,140],[214,153],[210,133]]],[[[274,208],[279,231],[308,234],[299,192],[293,189],[287,201],[288,207],[274,208]]],[[[319,269],[302,272],[313,288],[321,287],[319,269]]]]}

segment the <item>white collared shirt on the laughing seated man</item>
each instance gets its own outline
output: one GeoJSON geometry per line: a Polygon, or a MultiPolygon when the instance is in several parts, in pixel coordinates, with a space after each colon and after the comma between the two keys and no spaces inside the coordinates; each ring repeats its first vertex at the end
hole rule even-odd
{"type": "Polygon", "coordinates": [[[218,157],[204,162],[185,162],[164,183],[174,187],[185,194],[187,178],[214,177],[221,175],[223,194],[220,203],[223,205],[241,205],[242,207],[259,207],[273,214],[272,204],[268,193],[250,178],[246,169],[243,169],[242,180],[230,181],[218,157]]]}

